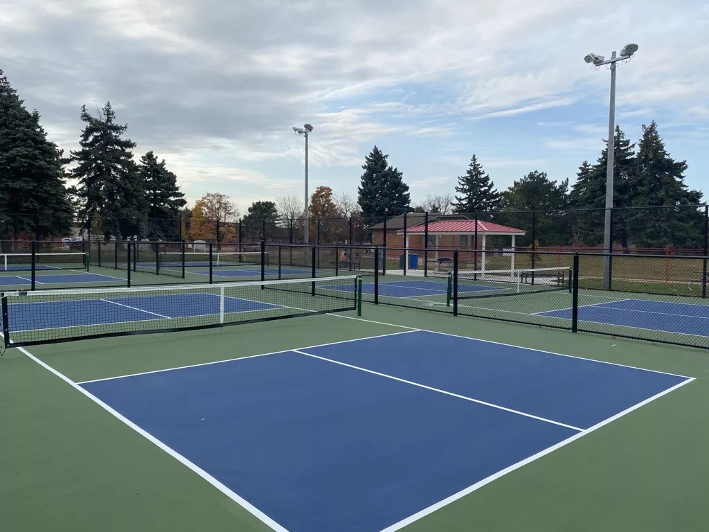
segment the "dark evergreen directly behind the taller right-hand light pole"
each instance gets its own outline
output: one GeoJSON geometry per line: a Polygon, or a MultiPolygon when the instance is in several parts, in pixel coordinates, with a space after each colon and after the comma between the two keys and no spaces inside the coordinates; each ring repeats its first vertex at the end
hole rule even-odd
{"type": "MultiPolygon", "coordinates": [[[[620,127],[615,126],[613,143],[613,205],[629,206],[632,203],[634,187],[631,186],[635,167],[635,144],[625,138],[620,127]]],[[[605,223],[605,182],[608,170],[608,146],[601,152],[595,165],[588,162],[579,167],[576,183],[571,187],[569,202],[573,209],[598,209],[595,211],[577,211],[573,218],[574,242],[594,246],[603,243],[605,223]]],[[[614,209],[613,240],[620,241],[623,248],[628,248],[627,221],[628,211],[614,209]]]]}

